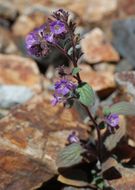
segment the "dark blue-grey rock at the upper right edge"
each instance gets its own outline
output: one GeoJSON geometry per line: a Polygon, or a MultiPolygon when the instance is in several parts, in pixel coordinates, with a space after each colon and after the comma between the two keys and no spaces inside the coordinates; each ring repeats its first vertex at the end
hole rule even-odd
{"type": "Polygon", "coordinates": [[[121,56],[135,68],[135,19],[116,20],[112,25],[113,44],[121,56]]]}

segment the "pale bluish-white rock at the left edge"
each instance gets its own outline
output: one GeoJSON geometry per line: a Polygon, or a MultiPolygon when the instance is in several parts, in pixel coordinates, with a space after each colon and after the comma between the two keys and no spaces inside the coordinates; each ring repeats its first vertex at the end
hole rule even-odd
{"type": "Polygon", "coordinates": [[[0,108],[10,108],[25,103],[34,93],[25,86],[0,85],[0,108]]]}

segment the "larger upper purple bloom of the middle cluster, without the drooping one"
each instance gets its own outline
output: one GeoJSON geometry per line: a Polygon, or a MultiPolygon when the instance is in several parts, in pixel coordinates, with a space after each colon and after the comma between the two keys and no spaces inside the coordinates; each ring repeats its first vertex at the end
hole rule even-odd
{"type": "Polygon", "coordinates": [[[67,95],[71,90],[76,88],[76,84],[67,79],[61,79],[55,83],[55,91],[57,94],[61,94],[63,96],[67,95]]]}

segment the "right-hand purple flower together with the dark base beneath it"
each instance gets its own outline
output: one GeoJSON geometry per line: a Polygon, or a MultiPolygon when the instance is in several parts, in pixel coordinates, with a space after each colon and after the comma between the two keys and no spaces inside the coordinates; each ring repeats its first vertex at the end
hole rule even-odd
{"type": "Polygon", "coordinates": [[[115,129],[119,128],[119,116],[116,113],[105,116],[105,122],[111,133],[115,132],[115,129]]]}

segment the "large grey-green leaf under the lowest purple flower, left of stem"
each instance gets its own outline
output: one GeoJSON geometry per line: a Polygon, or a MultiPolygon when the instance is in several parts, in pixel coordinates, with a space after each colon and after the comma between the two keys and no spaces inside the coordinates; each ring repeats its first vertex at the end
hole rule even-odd
{"type": "Polygon", "coordinates": [[[65,168],[76,165],[82,161],[82,153],[86,150],[78,143],[73,143],[58,154],[56,164],[58,168],[65,168]]]}

